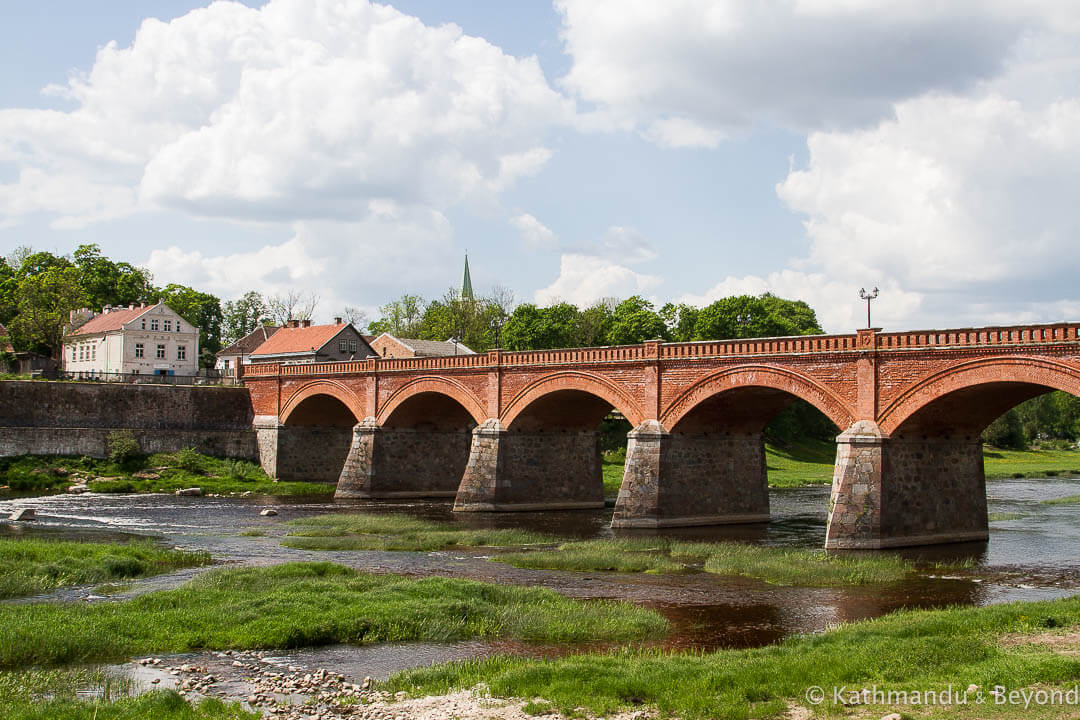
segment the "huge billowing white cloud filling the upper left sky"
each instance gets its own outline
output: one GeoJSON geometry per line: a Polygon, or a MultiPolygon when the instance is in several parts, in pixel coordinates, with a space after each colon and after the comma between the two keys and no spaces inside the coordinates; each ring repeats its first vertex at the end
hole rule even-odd
{"type": "Polygon", "coordinates": [[[216,2],[143,23],[49,89],[70,112],[0,110],[0,219],[90,222],[165,206],[270,221],[362,220],[370,201],[490,202],[550,158],[571,106],[535,57],[363,0],[216,2]],[[92,186],[42,198],[35,187],[92,186]],[[137,192],[138,205],[132,201],[137,192]]]}

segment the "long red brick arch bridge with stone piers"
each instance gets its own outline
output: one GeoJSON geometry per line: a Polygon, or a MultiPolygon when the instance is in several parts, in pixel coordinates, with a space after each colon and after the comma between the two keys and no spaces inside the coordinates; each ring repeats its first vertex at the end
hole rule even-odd
{"type": "Polygon", "coordinates": [[[842,431],[826,547],[987,539],[981,432],[1080,395],[1080,324],[804,336],[243,370],[262,464],[338,498],[599,507],[597,427],[632,425],[618,528],[769,517],[762,430],[795,398],[842,431]]]}

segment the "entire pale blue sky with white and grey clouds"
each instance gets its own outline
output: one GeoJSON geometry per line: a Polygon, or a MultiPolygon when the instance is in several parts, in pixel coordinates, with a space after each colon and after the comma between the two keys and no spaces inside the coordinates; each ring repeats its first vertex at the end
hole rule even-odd
{"type": "Polygon", "coordinates": [[[735,294],[1080,320],[1072,0],[0,5],[0,254],[374,320],[735,294]]]}

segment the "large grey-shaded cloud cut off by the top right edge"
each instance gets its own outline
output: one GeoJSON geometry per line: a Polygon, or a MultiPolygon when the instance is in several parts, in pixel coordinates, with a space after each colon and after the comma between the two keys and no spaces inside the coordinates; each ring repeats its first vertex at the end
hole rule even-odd
{"type": "MultiPolygon", "coordinates": [[[[893,103],[966,92],[1080,4],[1009,0],[556,0],[564,85],[611,127],[714,147],[757,123],[873,125],[893,103]]],[[[590,116],[590,124],[597,120],[590,116]]]]}

